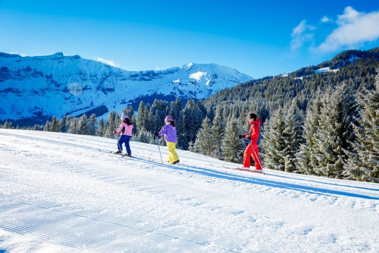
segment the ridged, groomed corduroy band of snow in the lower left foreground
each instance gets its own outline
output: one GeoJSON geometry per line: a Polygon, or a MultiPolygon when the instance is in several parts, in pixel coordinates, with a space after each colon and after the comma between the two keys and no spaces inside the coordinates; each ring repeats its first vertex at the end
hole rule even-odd
{"type": "MultiPolygon", "coordinates": [[[[84,213],[88,212],[93,213],[91,210],[84,210],[84,213]]],[[[115,218],[102,214],[98,216],[67,212],[59,210],[59,207],[45,207],[41,204],[0,197],[0,227],[2,229],[32,235],[51,243],[77,249],[120,252],[120,249],[124,248],[132,252],[156,252],[159,248],[156,245],[165,245],[165,248],[162,248],[165,252],[177,252],[172,243],[185,245],[186,249],[195,251],[204,251],[204,246],[210,247],[208,249],[223,251],[230,246],[225,243],[217,243],[218,246],[215,246],[209,241],[209,235],[206,232],[186,233],[187,230],[183,229],[183,226],[170,229],[146,229],[138,227],[138,219],[129,220],[128,217],[115,218]],[[18,213],[16,219],[12,217],[12,213],[15,212],[18,213]],[[103,219],[106,217],[113,220],[103,219]],[[96,223],[95,230],[93,223],[96,223]],[[99,245],[97,241],[103,242],[99,245]]]]}

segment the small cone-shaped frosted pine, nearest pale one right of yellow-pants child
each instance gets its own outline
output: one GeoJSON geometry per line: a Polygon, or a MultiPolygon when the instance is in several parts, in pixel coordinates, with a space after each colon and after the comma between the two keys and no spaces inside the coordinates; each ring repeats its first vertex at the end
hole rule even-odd
{"type": "Polygon", "coordinates": [[[212,138],[211,125],[206,116],[201,124],[201,129],[197,133],[194,150],[206,156],[214,156],[214,139],[212,138]]]}

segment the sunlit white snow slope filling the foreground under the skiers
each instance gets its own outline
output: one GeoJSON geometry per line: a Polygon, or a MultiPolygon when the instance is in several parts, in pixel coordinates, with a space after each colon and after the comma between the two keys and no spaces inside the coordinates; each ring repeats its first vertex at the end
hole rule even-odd
{"type": "Polygon", "coordinates": [[[181,150],[161,164],[156,145],[131,146],[122,158],[112,139],[0,129],[0,252],[379,250],[378,184],[181,150]]]}

